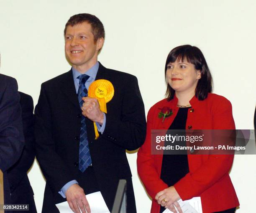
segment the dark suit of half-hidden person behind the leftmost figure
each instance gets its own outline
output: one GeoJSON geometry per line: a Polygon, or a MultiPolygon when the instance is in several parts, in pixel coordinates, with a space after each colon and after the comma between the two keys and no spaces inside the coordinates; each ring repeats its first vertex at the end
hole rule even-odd
{"type": "MultiPolygon", "coordinates": [[[[10,184],[11,203],[29,204],[29,211],[36,213],[36,205],[33,198],[33,190],[28,180],[27,172],[35,159],[34,150],[34,115],[33,99],[31,96],[19,92],[20,106],[22,109],[23,133],[25,147],[20,159],[8,169],[8,180],[10,184]]],[[[25,211],[24,211],[25,212],[25,211]]]]}

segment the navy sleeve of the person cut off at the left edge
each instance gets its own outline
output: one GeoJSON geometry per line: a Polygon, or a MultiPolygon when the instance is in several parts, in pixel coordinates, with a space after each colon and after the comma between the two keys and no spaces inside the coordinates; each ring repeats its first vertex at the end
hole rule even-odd
{"type": "Polygon", "coordinates": [[[0,169],[4,172],[19,159],[24,137],[17,81],[0,81],[0,169]]]}

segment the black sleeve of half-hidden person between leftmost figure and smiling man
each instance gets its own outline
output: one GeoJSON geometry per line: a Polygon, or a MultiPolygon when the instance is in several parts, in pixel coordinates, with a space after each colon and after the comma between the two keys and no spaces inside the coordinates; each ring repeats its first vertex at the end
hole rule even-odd
{"type": "Polygon", "coordinates": [[[23,133],[25,147],[20,159],[8,170],[8,179],[11,191],[15,190],[22,178],[27,174],[35,159],[34,150],[34,115],[33,99],[31,96],[20,94],[20,105],[22,109],[23,133]]]}

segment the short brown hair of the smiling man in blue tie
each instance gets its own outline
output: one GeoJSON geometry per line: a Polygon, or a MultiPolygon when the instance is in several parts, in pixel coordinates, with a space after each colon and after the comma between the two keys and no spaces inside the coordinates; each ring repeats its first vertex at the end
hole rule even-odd
{"type": "Polygon", "coordinates": [[[66,35],[67,26],[70,25],[73,27],[74,25],[81,24],[83,22],[87,22],[91,25],[95,43],[99,38],[105,38],[105,30],[102,22],[95,15],[89,13],[80,13],[71,16],[65,25],[64,35],[66,35]]]}

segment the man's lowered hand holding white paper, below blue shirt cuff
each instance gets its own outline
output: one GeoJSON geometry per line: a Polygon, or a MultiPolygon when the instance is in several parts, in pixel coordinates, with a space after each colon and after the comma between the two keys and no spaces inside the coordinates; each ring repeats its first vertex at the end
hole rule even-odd
{"type": "Polygon", "coordinates": [[[91,213],[88,201],[86,200],[84,190],[77,184],[71,185],[66,192],[67,202],[74,213],[91,213]],[[79,210],[79,208],[81,211],[79,210]],[[85,211],[86,210],[86,211],[85,211]]]}

